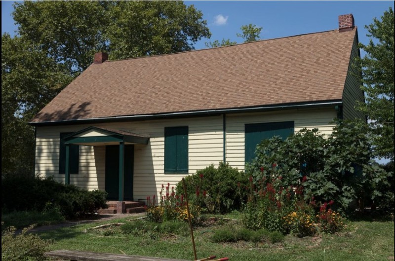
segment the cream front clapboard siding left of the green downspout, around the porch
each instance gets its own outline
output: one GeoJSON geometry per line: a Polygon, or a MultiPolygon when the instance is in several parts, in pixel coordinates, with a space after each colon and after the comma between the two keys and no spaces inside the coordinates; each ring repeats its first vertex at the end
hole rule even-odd
{"type": "MultiPolygon", "coordinates": [[[[37,127],[36,173],[54,176],[64,182],[59,173],[59,133],[75,132],[91,125],[37,127]]],[[[148,145],[134,147],[134,199],[146,199],[157,194],[161,185],[175,186],[185,175],[164,174],[164,127],[188,126],[189,174],[223,160],[222,116],[187,119],[94,124],[150,136],[148,145]]],[[[87,189],[105,187],[105,147],[80,146],[79,174],[71,174],[70,183],[87,189]]]]}

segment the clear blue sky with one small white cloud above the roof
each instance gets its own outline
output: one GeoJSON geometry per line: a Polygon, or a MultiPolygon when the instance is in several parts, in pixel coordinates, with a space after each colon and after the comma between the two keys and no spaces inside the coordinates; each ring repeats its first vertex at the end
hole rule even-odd
{"type": "MultiPolygon", "coordinates": [[[[11,35],[17,29],[11,12],[14,1],[1,1],[1,34],[11,35]]],[[[261,39],[287,37],[333,30],[338,27],[338,16],[352,13],[358,26],[358,37],[367,43],[365,25],[373,17],[380,18],[394,1],[185,1],[203,13],[212,33],[202,39],[196,49],[205,48],[204,42],[230,38],[242,42],[236,33],[246,24],[262,27],[261,39]]]]}

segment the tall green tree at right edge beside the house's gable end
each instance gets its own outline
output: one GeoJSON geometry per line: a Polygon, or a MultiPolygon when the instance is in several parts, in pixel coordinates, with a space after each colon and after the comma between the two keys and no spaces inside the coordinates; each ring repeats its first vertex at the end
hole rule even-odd
{"type": "Polygon", "coordinates": [[[358,108],[369,119],[375,156],[394,161],[394,11],[390,7],[381,21],[365,26],[369,43],[360,44],[366,55],[359,60],[365,103],[358,108]]]}

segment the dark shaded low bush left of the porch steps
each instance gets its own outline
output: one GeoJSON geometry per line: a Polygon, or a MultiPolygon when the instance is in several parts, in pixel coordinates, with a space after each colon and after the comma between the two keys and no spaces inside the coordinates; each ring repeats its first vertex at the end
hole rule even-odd
{"type": "Polygon", "coordinates": [[[52,178],[6,176],[1,181],[2,211],[42,212],[58,209],[66,219],[79,218],[107,208],[106,192],[64,185],[52,178]]]}

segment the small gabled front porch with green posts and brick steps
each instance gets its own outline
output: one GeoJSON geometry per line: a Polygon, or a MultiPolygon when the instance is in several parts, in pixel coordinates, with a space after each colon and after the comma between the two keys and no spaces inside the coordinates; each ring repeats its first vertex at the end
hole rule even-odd
{"type": "MultiPolygon", "coordinates": [[[[64,137],[65,183],[70,184],[70,148],[74,145],[105,147],[104,189],[109,209],[101,213],[138,213],[143,204],[133,201],[134,145],[147,145],[149,137],[123,130],[88,127],[64,137]],[[112,201],[114,200],[114,201],[112,201]],[[118,200],[118,201],[116,201],[118,200]],[[132,212],[131,212],[132,211],[132,212]]],[[[73,162],[79,159],[74,159],[73,162]]],[[[96,162],[95,162],[96,163],[96,162]]]]}

